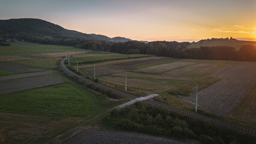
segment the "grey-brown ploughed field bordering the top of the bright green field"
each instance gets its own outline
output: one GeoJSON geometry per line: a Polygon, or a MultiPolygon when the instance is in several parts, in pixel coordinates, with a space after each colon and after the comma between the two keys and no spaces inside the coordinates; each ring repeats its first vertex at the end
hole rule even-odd
{"type": "Polygon", "coordinates": [[[7,80],[0,82],[0,94],[8,92],[22,91],[25,89],[37,88],[39,86],[52,85],[64,82],[55,75],[28,77],[24,79],[7,80]]]}

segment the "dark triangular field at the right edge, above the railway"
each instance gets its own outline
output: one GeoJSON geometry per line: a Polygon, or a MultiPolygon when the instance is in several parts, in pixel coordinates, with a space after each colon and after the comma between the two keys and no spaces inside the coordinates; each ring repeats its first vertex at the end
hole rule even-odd
{"type": "Polygon", "coordinates": [[[256,122],[256,83],[246,92],[236,108],[231,112],[231,116],[245,121],[256,122]]]}

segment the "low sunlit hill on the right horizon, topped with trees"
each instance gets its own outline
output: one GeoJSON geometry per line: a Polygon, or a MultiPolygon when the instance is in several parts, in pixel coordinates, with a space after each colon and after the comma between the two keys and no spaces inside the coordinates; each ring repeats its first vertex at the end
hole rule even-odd
{"type": "Polygon", "coordinates": [[[229,46],[239,50],[244,45],[256,46],[256,41],[241,41],[234,38],[212,38],[207,40],[200,40],[197,43],[190,43],[188,48],[198,48],[201,46],[215,47],[215,46],[229,46]]]}

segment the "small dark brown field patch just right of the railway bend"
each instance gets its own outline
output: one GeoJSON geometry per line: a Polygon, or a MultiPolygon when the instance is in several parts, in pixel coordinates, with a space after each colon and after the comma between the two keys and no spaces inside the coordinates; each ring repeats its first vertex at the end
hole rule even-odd
{"type": "MultiPolygon", "coordinates": [[[[94,75],[94,67],[82,68],[81,71],[82,73],[90,74],[90,76],[94,75]]],[[[98,77],[106,74],[120,73],[121,71],[124,71],[124,68],[106,65],[106,66],[95,67],[95,71],[96,71],[96,77],[98,77]]]]}

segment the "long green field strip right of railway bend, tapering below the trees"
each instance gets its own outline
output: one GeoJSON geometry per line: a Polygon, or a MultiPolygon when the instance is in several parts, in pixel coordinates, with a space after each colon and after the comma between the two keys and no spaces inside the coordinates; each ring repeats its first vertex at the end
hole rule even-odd
{"type": "Polygon", "coordinates": [[[70,64],[74,65],[76,64],[76,60],[78,61],[78,64],[89,64],[89,63],[96,63],[96,62],[103,62],[103,61],[111,61],[111,60],[117,60],[117,59],[130,59],[130,58],[141,58],[145,56],[151,56],[151,55],[139,55],[139,54],[133,54],[133,55],[94,55],[94,56],[73,56],[70,58],[70,64]]]}

